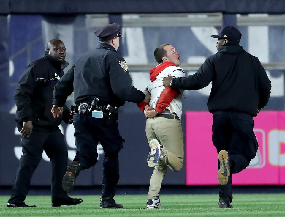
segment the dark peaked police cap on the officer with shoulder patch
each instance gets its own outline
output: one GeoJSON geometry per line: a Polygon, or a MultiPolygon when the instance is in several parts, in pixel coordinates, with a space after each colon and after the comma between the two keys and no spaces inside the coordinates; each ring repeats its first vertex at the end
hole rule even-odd
{"type": "Polygon", "coordinates": [[[118,23],[111,23],[96,30],[94,34],[98,36],[99,41],[107,41],[114,37],[122,37],[121,26],[118,23]]]}

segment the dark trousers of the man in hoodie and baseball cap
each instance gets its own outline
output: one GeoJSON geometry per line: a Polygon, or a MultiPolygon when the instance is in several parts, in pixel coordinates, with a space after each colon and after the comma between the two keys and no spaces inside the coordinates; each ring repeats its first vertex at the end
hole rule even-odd
{"type": "MultiPolygon", "coordinates": [[[[231,174],[226,185],[220,185],[220,197],[228,196],[232,202],[232,174],[245,169],[257,153],[258,143],[253,132],[253,117],[235,111],[213,113],[213,144],[219,153],[229,152],[231,174]]],[[[218,169],[220,162],[218,160],[218,169]]]]}

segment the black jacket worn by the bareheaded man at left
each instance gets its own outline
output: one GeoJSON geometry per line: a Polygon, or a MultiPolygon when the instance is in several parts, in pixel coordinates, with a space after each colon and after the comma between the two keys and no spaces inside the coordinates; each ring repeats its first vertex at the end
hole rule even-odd
{"type": "MultiPolygon", "coordinates": [[[[59,77],[64,75],[64,69],[68,63],[57,61],[45,52],[45,56],[28,65],[22,77],[18,81],[14,98],[17,111],[15,120],[17,127],[22,128],[23,121],[32,121],[34,130],[56,130],[63,117],[53,118],[51,108],[53,106],[53,88],[58,82],[55,73],[59,77]],[[52,81],[40,82],[37,78],[46,78],[52,81]]],[[[69,114],[65,106],[64,117],[69,114]]]]}

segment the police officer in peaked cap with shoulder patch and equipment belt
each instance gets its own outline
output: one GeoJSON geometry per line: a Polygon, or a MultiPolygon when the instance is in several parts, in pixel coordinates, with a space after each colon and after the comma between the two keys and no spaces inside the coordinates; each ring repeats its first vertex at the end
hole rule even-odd
{"type": "Polygon", "coordinates": [[[73,124],[78,151],[67,166],[63,188],[72,191],[80,170],[97,163],[100,141],[105,152],[100,208],[123,207],[113,199],[119,180],[118,153],[124,141],[118,131],[118,108],[125,101],[139,103],[145,99],[143,92],[132,86],[128,65],[116,52],[120,28],[112,23],[98,29],[95,35],[99,47],[83,54],[60,79],[53,93],[53,117],[62,113],[62,106],[73,91],[76,104],[73,124]]]}

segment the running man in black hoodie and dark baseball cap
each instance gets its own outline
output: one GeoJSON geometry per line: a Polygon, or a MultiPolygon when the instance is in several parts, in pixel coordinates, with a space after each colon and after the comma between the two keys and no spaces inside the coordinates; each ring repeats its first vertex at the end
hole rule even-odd
{"type": "Polygon", "coordinates": [[[271,84],[259,59],[239,45],[241,33],[223,26],[217,35],[218,52],[197,73],[186,78],[167,77],[165,87],[197,90],[212,82],[208,109],[213,113],[213,144],[219,153],[218,208],[232,208],[232,174],[245,169],[257,153],[253,117],[266,106],[271,84]]]}

